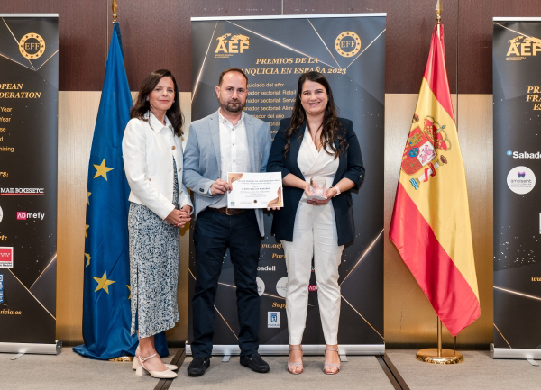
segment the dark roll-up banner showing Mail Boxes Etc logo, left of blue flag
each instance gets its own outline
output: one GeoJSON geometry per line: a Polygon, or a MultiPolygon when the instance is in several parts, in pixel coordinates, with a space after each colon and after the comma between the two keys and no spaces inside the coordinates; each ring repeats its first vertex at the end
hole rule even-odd
{"type": "Polygon", "coordinates": [[[0,18],[0,352],[57,354],[59,17],[0,18]]]}

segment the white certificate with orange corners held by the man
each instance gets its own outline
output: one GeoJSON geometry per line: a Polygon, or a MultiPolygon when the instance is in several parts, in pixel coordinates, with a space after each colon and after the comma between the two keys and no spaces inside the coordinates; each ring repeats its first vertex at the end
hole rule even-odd
{"type": "Polygon", "coordinates": [[[282,207],[281,172],[228,172],[227,182],[233,189],[227,193],[231,209],[266,209],[282,207]]]}

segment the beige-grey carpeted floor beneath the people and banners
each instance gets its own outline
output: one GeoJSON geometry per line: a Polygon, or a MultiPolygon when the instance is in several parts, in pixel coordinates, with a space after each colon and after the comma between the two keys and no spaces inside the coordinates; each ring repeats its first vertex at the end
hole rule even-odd
{"type": "MultiPolygon", "coordinates": [[[[175,352],[175,349],[170,349],[171,358],[175,352]]],[[[464,363],[437,366],[417,361],[416,352],[387,350],[387,355],[411,390],[541,389],[541,367],[531,366],[526,360],[492,360],[488,351],[465,351],[464,363]]],[[[153,390],[158,384],[158,379],[149,375],[135,376],[131,363],[81,358],[70,348],[64,348],[59,356],[11,358],[14,355],[0,354],[1,390],[153,390]]],[[[186,374],[191,360],[188,357],[170,389],[393,389],[375,357],[350,356],[335,376],[326,376],[321,371],[323,357],[306,357],[305,372],[298,376],[286,371],[287,357],[264,358],[271,365],[268,374],[256,374],[242,367],[238,357],[231,358],[228,363],[222,363],[221,358],[215,357],[204,376],[193,378],[186,374]]]]}

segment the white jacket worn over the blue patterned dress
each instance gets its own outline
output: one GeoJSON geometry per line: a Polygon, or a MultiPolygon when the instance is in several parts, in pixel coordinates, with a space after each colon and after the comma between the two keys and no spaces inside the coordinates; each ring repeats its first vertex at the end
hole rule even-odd
{"type": "Polygon", "coordinates": [[[179,177],[179,204],[192,206],[182,183],[182,140],[175,137],[167,116],[165,126],[152,113],[148,121],[132,119],[122,140],[124,169],[130,189],[129,200],[143,204],[163,220],[177,204],[173,204],[173,158],[179,177]]]}

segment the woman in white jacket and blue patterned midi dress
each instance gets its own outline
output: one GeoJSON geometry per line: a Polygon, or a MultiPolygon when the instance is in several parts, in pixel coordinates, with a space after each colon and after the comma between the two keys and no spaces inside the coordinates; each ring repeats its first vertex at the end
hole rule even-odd
{"type": "Polygon", "coordinates": [[[139,347],[133,368],[172,378],[154,349],[154,335],[179,321],[179,227],[190,220],[192,204],[182,184],[182,124],[179,89],[169,70],[152,72],[142,83],[122,142],[131,188],[128,231],[132,334],[139,347]]]}

